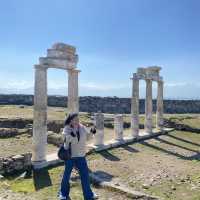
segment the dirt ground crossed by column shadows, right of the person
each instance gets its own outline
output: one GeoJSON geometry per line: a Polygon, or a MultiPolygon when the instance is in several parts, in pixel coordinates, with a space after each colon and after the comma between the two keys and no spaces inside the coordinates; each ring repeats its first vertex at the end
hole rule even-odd
{"type": "Polygon", "coordinates": [[[171,132],[89,157],[92,171],[164,199],[200,199],[200,134],[171,132]]]}

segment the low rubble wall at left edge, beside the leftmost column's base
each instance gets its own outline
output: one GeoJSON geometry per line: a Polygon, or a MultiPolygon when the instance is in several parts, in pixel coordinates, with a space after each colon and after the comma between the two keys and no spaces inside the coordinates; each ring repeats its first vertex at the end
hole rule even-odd
{"type": "Polygon", "coordinates": [[[25,153],[7,158],[0,158],[0,174],[12,174],[16,171],[31,169],[31,153],[25,153]]]}

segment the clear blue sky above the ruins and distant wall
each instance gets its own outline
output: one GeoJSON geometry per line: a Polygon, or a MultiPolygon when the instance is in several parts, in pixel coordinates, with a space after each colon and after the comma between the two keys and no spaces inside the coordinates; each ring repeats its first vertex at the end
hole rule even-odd
{"type": "MultiPolygon", "coordinates": [[[[32,93],[33,65],[65,42],[77,47],[81,96],[129,97],[132,73],[159,65],[165,98],[200,98],[199,9],[199,0],[2,0],[0,93],[32,93]]],[[[65,71],[49,70],[48,93],[67,95],[65,71]]]]}

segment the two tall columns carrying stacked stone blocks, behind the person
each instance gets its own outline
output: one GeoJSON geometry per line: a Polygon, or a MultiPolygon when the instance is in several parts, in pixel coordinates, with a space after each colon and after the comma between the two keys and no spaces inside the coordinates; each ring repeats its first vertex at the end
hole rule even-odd
{"type": "Polygon", "coordinates": [[[76,48],[63,43],[56,43],[47,50],[47,56],[39,58],[35,65],[35,94],[33,122],[33,155],[34,166],[41,167],[46,163],[47,143],[47,70],[63,69],[68,72],[68,109],[79,111],[78,98],[78,55],[76,48]]]}

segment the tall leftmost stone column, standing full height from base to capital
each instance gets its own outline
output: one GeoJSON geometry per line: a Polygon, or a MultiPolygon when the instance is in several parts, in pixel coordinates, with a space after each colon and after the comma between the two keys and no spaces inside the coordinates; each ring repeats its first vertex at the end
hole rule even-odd
{"type": "Polygon", "coordinates": [[[37,167],[46,161],[47,144],[47,68],[35,65],[35,93],[32,161],[37,167]]]}

